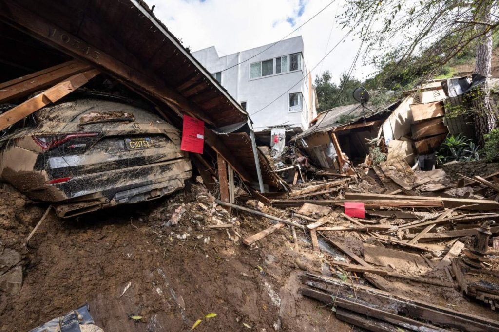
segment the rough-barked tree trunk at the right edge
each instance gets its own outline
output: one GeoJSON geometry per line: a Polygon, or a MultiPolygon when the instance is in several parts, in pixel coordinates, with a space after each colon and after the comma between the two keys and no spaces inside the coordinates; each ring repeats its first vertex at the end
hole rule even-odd
{"type": "MultiPolygon", "coordinates": [[[[490,10],[483,15],[485,22],[490,22],[490,10]]],[[[488,27],[480,26],[480,29],[488,27]]],[[[474,104],[477,116],[475,118],[475,131],[479,146],[484,146],[484,135],[496,128],[496,114],[491,105],[489,79],[491,77],[492,65],[492,31],[489,30],[478,40],[477,53],[475,56],[475,74],[484,75],[487,80],[479,89],[474,104]]]]}

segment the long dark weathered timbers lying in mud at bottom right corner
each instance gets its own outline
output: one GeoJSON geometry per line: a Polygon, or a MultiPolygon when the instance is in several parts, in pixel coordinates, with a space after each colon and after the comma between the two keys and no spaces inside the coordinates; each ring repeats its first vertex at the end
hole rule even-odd
{"type": "Polygon", "coordinates": [[[333,303],[332,297],[334,297],[335,307],[376,317],[397,324],[403,329],[413,331],[456,329],[471,332],[499,332],[499,322],[496,320],[396,296],[371,287],[353,286],[349,283],[312,273],[305,273],[302,276],[302,283],[307,286],[307,288],[300,289],[301,294],[304,296],[327,305],[333,303]],[[400,315],[400,313],[403,313],[403,315],[400,315]],[[416,324],[414,323],[416,320],[418,320],[416,323],[419,325],[410,325],[416,324]],[[433,326],[433,324],[438,327],[433,326]]]}

